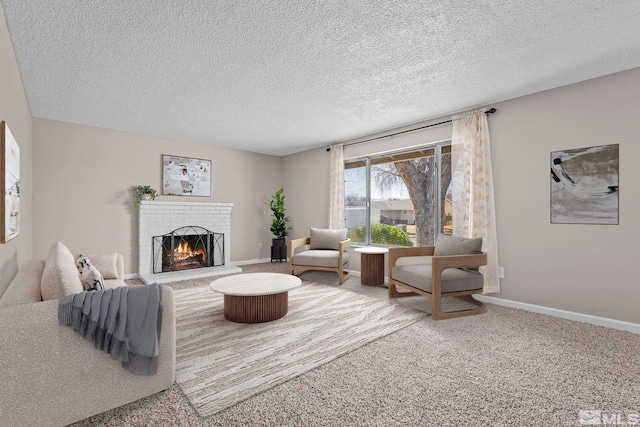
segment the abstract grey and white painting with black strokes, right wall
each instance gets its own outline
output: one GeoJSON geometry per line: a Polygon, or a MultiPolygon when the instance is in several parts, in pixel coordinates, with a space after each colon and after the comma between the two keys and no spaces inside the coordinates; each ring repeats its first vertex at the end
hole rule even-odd
{"type": "Polygon", "coordinates": [[[618,224],[619,144],[551,152],[551,223],[618,224]]]}

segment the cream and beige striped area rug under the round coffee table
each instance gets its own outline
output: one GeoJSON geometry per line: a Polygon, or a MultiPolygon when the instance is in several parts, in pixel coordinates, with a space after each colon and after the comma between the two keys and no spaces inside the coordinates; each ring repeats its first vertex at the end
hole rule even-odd
{"type": "Polygon", "coordinates": [[[200,416],[330,362],[427,315],[330,286],[303,282],[273,322],[233,323],[209,287],[178,290],[176,382],[200,416]]]}

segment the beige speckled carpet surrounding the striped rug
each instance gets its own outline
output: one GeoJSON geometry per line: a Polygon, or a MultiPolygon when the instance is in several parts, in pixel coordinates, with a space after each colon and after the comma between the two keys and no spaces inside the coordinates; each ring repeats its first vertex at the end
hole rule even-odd
{"type": "MultiPolygon", "coordinates": [[[[340,287],[335,274],[303,277],[388,301],[358,277],[340,287]]],[[[429,310],[423,297],[394,302],[429,310]]],[[[480,316],[427,317],[208,417],[174,385],[75,427],[580,426],[581,410],[627,421],[640,412],[639,348],[637,334],[490,305],[480,316]]]]}

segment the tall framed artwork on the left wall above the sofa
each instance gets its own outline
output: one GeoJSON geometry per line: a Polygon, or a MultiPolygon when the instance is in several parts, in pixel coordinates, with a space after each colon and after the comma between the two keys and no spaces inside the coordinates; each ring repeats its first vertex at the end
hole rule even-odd
{"type": "Polygon", "coordinates": [[[2,186],[2,243],[20,234],[20,147],[7,122],[0,124],[0,181],[2,186]]]}

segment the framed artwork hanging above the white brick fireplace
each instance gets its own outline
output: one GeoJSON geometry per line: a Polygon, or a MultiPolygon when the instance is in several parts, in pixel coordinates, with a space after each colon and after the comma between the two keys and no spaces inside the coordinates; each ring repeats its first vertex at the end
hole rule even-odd
{"type": "Polygon", "coordinates": [[[163,154],[162,194],[211,197],[211,160],[163,154]]]}

